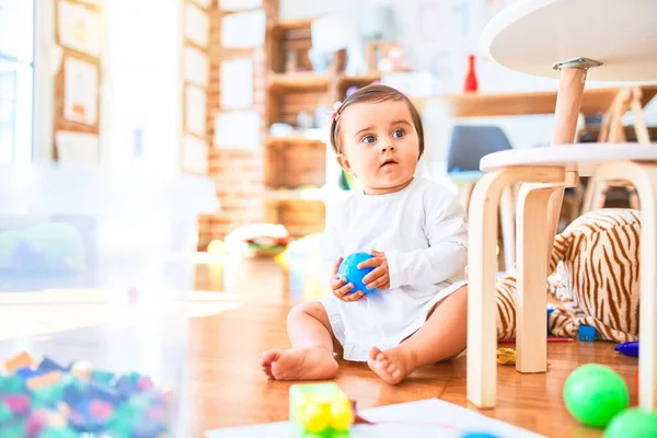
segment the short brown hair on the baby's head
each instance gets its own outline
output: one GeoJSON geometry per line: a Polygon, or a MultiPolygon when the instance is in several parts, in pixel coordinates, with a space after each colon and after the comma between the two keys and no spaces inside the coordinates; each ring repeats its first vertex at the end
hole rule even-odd
{"type": "Polygon", "coordinates": [[[419,157],[424,152],[424,128],[422,126],[422,117],[417,112],[413,102],[406,95],[404,95],[399,90],[393,89],[388,85],[367,85],[358,91],[350,94],[338,108],[335,110],[333,120],[331,122],[331,146],[335,153],[341,153],[341,145],[339,145],[339,115],[345,108],[349,105],[354,105],[356,103],[379,103],[379,102],[388,102],[388,101],[404,101],[406,105],[408,105],[408,110],[411,111],[411,117],[413,118],[413,125],[415,125],[415,130],[417,131],[417,139],[419,146],[419,157]]]}

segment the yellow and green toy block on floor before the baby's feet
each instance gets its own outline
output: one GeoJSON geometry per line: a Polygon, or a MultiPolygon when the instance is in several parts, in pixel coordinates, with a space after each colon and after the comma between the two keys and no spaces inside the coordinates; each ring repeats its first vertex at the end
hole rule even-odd
{"type": "Polygon", "coordinates": [[[351,401],[336,383],[290,387],[290,425],[293,437],[348,437],[354,420],[351,401]]]}

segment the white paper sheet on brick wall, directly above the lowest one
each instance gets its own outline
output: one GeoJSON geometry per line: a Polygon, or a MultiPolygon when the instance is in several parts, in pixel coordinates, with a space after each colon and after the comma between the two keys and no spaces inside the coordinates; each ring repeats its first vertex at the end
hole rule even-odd
{"type": "Polygon", "coordinates": [[[221,107],[247,108],[253,105],[253,60],[230,59],[221,62],[221,107]]]}

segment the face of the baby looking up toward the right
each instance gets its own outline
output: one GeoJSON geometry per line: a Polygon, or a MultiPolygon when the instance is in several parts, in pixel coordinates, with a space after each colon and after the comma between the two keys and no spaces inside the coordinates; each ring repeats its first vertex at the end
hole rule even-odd
{"type": "Polygon", "coordinates": [[[338,162],[356,174],[366,194],[403,188],[413,178],[419,140],[404,101],[357,103],[339,115],[338,162]]]}

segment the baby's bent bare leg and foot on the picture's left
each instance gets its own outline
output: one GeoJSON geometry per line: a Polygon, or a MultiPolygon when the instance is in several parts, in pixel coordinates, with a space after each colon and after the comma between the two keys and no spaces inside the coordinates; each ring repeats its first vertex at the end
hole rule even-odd
{"type": "MultiPolygon", "coordinates": [[[[319,302],[303,302],[290,310],[287,320],[292,348],[263,353],[261,367],[269,379],[322,380],[337,373],[328,315],[319,302]]],[[[337,344],[337,345],[336,345],[337,344]]]]}

